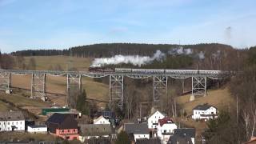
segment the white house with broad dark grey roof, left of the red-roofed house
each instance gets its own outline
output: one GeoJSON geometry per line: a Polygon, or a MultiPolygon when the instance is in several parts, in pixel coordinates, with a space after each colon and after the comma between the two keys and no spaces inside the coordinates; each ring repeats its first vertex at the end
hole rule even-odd
{"type": "Polygon", "coordinates": [[[125,123],[124,130],[133,136],[135,142],[141,138],[150,139],[150,130],[146,123],[125,123]]]}

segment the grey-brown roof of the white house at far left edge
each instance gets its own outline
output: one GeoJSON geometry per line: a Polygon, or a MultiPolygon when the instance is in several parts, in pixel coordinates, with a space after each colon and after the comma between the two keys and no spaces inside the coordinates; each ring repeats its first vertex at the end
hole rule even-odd
{"type": "Polygon", "coordinates": [[[0,112],[0,121],[1,120],[17,121],[25,120],[25,117],[21,111],[0,112]]]}

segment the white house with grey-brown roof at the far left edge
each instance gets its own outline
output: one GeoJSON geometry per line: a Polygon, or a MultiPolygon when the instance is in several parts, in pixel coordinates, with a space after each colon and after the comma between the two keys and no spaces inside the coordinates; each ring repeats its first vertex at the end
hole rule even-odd
{"type": "Polygon", "coordinates": [[[0,131],[24,131],[25,117],[20,111],[0,112],[0,131]]]}

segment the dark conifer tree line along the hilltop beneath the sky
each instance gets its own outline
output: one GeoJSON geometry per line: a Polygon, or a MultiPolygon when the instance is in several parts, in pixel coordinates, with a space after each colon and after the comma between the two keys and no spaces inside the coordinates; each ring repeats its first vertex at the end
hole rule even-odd
{"type": "MultiPolygon", "coordinates": [[[[156,50],[162,50],[167,53],[169,50],[178,48],[179,45],[170,44],[137,44],[137,43],[102,43],[86,46],[74,46],[64,50],[18,50],[12,52],[15,56],[51,56],[51,55],[69,55],[83,58],[101,58],[112,57],[116,54],[123,55],[152,55],[156,50]]],[[[231,46],[218,43],[182,45],[182,47],[190,48],[198,51],[211,49],[232,49],[231,46]]]]}

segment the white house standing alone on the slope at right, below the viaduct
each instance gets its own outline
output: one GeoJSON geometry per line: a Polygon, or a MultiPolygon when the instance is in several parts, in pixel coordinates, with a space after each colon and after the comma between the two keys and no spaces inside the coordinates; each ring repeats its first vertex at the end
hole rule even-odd
{"type": "Polygon", "coordinates": [[[215,106],[208,105],[208,103],[203,105],[195,106],[193,109],[193,119],[203,119],[209,120],[210,118],[217,118],[218,110],[215,106]]]}

